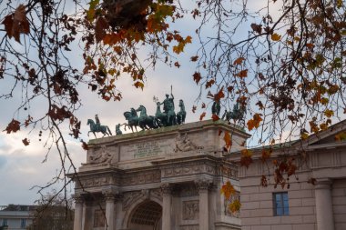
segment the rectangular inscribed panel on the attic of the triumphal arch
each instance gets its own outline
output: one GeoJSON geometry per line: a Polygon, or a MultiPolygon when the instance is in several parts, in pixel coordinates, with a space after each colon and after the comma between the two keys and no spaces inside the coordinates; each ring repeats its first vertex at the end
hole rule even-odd
{"type": "Polygon", "coordinates": [[[120,147],[120,160],[128,161],[145,157],[168,155],[174,151],[173,142],[168,140],[142,141],[120,147]]]}

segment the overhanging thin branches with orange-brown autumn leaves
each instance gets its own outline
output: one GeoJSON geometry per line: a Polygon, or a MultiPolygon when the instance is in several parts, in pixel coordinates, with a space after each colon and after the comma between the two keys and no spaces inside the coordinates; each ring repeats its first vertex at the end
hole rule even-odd
{"type": "MultiPolygon", "coordinates": [[[[40,136],[44,131],[49,136],[46,145],[56,145],[62,159],[56,180],[63,178],[66,185],[69,169],[64,165],[70,162],[72,171],[76,168],[61,125],[67,124],[69,135],[79,138],[78,85],[87,85],[106,101],[121,100],[120,75],[130,76],[134,87],[143,89],[149,66],[158,61],[181,66],[175,55],[198,39],[197,53],[190,57],[196,64],[191,80],[206,100],[225,108],[236,102],[247,108],[245,124],[258,132],[259,144],[291,137],[304,140],[346,112],[344,2],[268,0],[254,8],[248,1],[198,0],[192,10],[182,4],[90,0],[83,5],[74,0],[70,11],[66,7],[72,3],[66,0],[2,2],[0,79],[12,85],[0,98],[13,97],[21,88],[23,99],[16,114],[26,117],[10,118],[4,131],[38,128],[40,136]],[[188,15],[196,20],[196,35],[172,29],[188,15]],[[81,69],[67,58],[76,42],[83,48],[81,69]],[[34,117],[31,105],[36,98],[46,100],[46,112],[34,117]]],[[[209,104],[198,99],[206,110],[209,104]]],[[[193,106],[194,113],[197,107],[193,106]]],[[[205,117],[203,111],[200,120],[205,117]]],[[[337,141],[343,139],[343,134],[336,136],[337,141]]],[[[229,151],[228,134],[224,140],[229,151]]],[[[27,137],[23,144],[30,145],[27,137]]],[[[87,149],[85,142],[82,145],[87,149]]],[[[262,155],[268,157],[269,153],[262,155]]],[[[248,167],[251,162],[251,153],[244,150],[240,164],[248,167]]],[[[284,183],[280,174],[294,173],[294,162],[289,162],[276,164],[277,185],[284,183]]],[[[262,184],[266,185],[265,178],[262,184]]]]}

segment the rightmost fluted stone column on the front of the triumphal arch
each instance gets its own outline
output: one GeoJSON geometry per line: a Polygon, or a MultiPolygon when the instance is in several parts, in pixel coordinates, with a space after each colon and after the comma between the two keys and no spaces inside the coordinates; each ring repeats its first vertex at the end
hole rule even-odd
{"type": "Polygon", "coordinates": [[[208,180],[196,182],[199,192],[199,230],[209,230],[209,187],[208,180]]]}

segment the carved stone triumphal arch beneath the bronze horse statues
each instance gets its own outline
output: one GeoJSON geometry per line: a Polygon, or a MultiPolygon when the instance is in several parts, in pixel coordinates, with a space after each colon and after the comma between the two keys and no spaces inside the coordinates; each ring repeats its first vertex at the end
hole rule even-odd
{"type": "Polygon", "coordinates": [[[239,151],[249,137],[228,122],[203,121],[90,140],[76,182],[74,230],[240,229],[220,186],[236,185],[224,133],[239,151]]]}

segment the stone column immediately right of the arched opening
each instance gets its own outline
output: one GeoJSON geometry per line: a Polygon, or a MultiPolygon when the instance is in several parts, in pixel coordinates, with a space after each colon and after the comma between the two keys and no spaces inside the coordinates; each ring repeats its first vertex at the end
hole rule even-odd
{"type": "Polygon", "coordinates": [[[172,194],[169,184],[161,185],[162,190],[162,229],[171,230],[172,194]]]}

